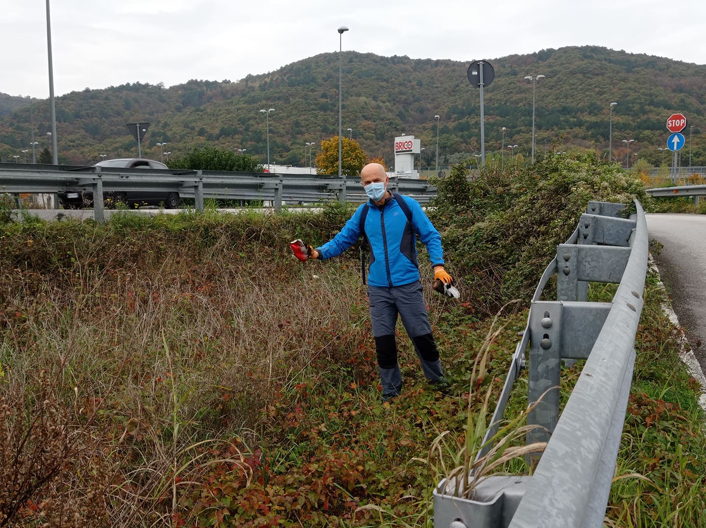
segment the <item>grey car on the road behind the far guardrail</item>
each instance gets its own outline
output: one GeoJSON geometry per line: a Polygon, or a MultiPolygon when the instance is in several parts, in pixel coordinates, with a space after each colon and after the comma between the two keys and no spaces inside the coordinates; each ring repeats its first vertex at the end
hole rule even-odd
{"type": "MultiPolygon", "coordinates": [[[[95,167],[128,168],[128,169],[169,169],[167,165],[155,160],[145,160],[139,157],[125,157],[116,160],[103,160],[95,167]]],[[[155,191],[115,191],[103,193],[103,202],[107,207],[114,207],[118,203],[125,205],[160,205],[167,209],[179,207],[179,193],[160,193],[155,191]]],[[[93,193],[82,191],[68,191],[59,193],[59,203],[66,209],[80,209],[92,207],[93,193]]]]}

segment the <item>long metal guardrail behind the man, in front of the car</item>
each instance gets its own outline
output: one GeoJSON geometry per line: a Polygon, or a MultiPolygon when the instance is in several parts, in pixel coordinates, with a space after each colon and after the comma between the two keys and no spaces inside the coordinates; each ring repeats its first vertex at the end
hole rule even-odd
{"type": "MultiPolygon", "coordinates": [[[[115,191],[157,191],[193,198],[203,212],[204,198],[263,200],[280,210],[285,203],[320,203],[338,198],[345,186],[345,199],[367,200],[357,176],[272,174],[263,172],[185,171],[172,169],[126,169],[0,163],[0,192],[57,193],[90,191],[94,217],[104,219],[103,193],[115,191]]],[[[422,203],[436,196],[436,188],[422,179],[390,178],[388,188],[422,203]]]]}

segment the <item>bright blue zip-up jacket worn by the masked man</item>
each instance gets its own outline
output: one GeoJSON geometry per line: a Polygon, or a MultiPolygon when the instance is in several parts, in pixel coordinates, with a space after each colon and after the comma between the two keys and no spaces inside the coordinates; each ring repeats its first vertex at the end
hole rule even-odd
{"type": "Polygon", "coordinates": [[[378,207],[372,201],[361,205],[332,240],[316,250],[321,258],[340,255],[365,235],[371,249],[368,284],[376,287],[393,287],[419,280],[419,263],[414,234],[429,252],[431,265],[443,265],[441,235],[426,217],[421,205],[414,198],[402,196],[412,212],[412,225],[394,196],[378,207]],[[361,233],[360,217],[363,208],[369,208],[365,218],[365,233],[361,233]]]}

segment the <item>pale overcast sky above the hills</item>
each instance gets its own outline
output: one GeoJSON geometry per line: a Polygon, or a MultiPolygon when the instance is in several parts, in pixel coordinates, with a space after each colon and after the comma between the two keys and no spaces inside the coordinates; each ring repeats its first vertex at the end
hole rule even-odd
{"type": "MultiPolygon", "coordinates": [[[[470,61],[596,45],[706,64],[706,1],[50,0],[54,93],[239,80],[339,47],[470,61]]],[[[4,0],[0,92],[49,96],[46,0],[4,0]]],[[[527,72],[536,73],[536,72],[527,72]]]]}

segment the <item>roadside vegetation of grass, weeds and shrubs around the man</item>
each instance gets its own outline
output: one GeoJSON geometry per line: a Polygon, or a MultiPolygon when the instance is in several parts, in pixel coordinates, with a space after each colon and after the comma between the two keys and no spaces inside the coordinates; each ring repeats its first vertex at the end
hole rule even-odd
{"type": "MultiPolygon", "coordinates": [[[[588,200],[650,203],[592,155],[465,171],[438,182],[433,212],[460,301],[431,291],[420,255],[453,393],[424,383],[400,338],[405,392],[385,404],[357,249],[304,264],[289,252],[328,240],[351,206],[96,224],[15,221],[6,203],[0,526],[431,527],[433,486],[492,412],[554,246],[588,200]]],[[[606,524],[699,526],[699,388],[654,275],[645,299],[606,524]]],[[[525,407],[518,383],[505,418],[525,407]]]]}

